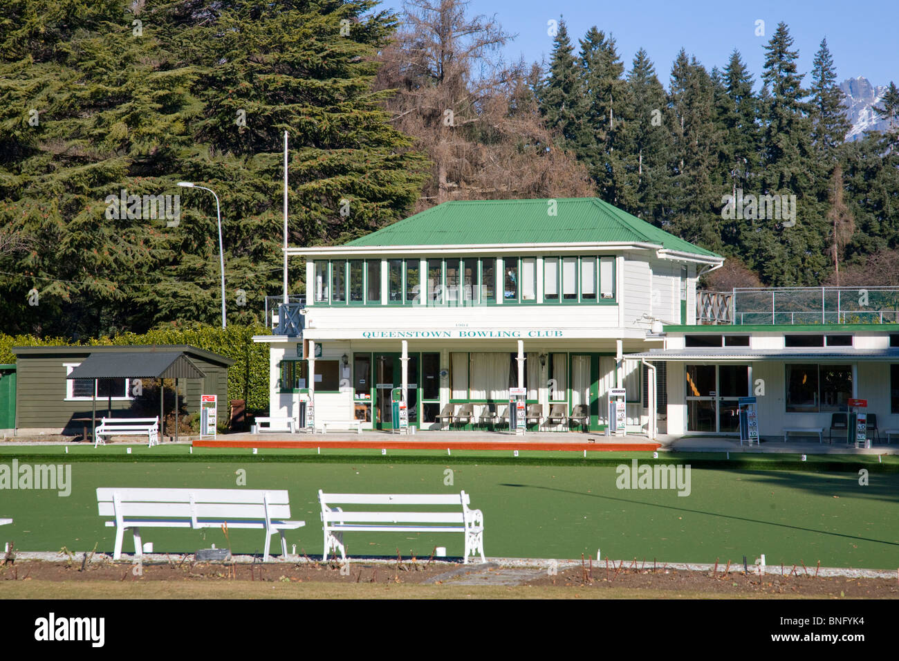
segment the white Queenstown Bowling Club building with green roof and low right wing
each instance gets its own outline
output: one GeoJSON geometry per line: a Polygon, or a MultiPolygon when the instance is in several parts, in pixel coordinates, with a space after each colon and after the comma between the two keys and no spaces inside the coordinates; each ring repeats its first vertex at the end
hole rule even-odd
{"type": "Polygon", "coordinates": [[[726,434],[761,379],[762,436],[826,429],[848,397],[899,427],[895,303],[829,308],[817,289],[821,309],[796,312],[770,294],[698,294],[723,257],[601,200],[445,202],[286,253],[306,260],[305,298],[254,338],[271,345],[272,416],[314,404],[316,426],[393,429],[402,389],[410,426],[464,430],[502,421],[519,388],[529,428],[602,432],[619,389],[628,433],[726,434]]]}

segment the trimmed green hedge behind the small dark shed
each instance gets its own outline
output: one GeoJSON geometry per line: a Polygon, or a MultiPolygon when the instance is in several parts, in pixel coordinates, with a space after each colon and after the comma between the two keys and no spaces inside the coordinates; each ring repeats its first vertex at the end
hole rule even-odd
{"type": "Polygon", "coordinates": [[[254,335],[267,335],[265,326],[172,326],[157,328],[143,335],[124,333],[102,336],[83,342],[64,337],[5,335],[0,333],[0,363],[15,362],[13,346],[97,346],[102,344],[190,344],[198,349],[227,356],[235,361],[227,371],[228,399],[245,399],[248,409],[269,406],[269,345],[254,343],[254,335]]]}

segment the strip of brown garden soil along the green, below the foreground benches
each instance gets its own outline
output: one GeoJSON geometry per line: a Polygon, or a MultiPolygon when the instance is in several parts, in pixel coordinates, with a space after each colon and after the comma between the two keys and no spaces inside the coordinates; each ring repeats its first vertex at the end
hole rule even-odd
{"type": "Polygon", "coordinates": [[[378,562],[354,561],[341,571],[336,562],[299,563],[235,563],[202,562],[192,556],[173,558],[167,562],[144,562],[132,565],[129,561],[112,562],[106,558],[94,558],[83,563],[77,559],[57,562],[19,560],[0,566],[0,581],[32,579],[51,582],[127,582],[127,581],[253,581],[268,583],[376,583],[376,584],[430,584],[430,585],[555,585],[578,590],[633,591],[638,597],[641,591],[671,591],[679,594],[708,594],[709,596],[734,597],[848,597],[848,598],[899,598],[897,578],[851,578],[847,576],[814,576],[814,567],[806,570],[785,567],[785,575],[779,567],[769,567],[765,576],[744,575],[743,571],[731,571],[725,575],[725,567],[717,571],[688,571],[664,567],[609,568],[594,565],[559,568],[550,575],[546,568],[521,569],[488,566],[463,566],[446,562],[378,562]]]}

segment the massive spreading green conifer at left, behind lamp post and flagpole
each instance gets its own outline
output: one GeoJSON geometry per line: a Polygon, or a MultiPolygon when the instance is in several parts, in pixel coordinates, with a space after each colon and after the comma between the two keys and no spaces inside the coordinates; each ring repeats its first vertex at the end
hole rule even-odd
{"type": "MultiPolygon", "coordinates": [[[[0,255],[14,274],[0,273],[12,329],[218,322],[215,201],[182,180],[221,199],[229,318],[261,317],[280,290],[284,130],[291,244],[403,217],[426,162],[371,91],[395,23],[372,7],[160,0],[122,13],[106,0],[6,0],[0,77],[12,83],[0,87],[0,121],[13,130],[0,138],[0,221],[33,246],[0,255]],[[141,199],[136,213],[121,190],[141,199]],[[179,193],[180,219],[144,217],[144,195],[179,193]],[[38,306],[26,304],[32,286],[38,306]]],[[[297,264],[294,290],[303,273],[297,264]]]]}

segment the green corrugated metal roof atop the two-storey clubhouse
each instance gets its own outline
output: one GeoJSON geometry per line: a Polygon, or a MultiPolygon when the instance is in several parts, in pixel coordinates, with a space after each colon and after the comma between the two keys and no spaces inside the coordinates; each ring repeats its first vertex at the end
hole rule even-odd
{"type": "Polygon", "coordinates": [[[450,201],[416,213],[347,246],[473,246],[530,243],[652,243],[720,257],[596,198],[450,201]]]}

